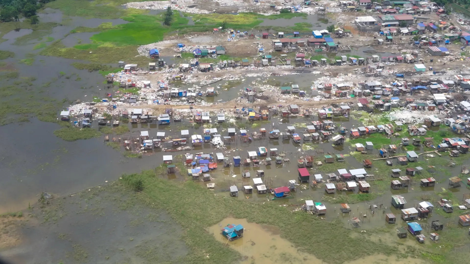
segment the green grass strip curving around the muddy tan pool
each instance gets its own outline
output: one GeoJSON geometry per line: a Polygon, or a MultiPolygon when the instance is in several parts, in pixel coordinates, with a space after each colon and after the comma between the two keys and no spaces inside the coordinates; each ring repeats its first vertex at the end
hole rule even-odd
{"type": "MultiPolygon", "coordinates": [[[[143,190],[136,194],[138,199],[167,210],[175,221],[186,228],[183,237],[191,252],[204,251],[204,255],[211,256],[209,259],[193,256],[193,259],[188,259],[185,263],[234,263],[239,259],[238,253],[224,248],[223,243],[216,241],[212,234],[204,230],[229,216],[279,227],[282,237],[291,241],[299,250],[312,253],[311,248],[316,248],[315,256],[329,263],[343,263],[345,258],[352,260],[359,257],[355,254],[359,251],[362,256],[367,256],[376,252],[391,255],[398,250],[396,246],[364,239],[363,235],[353,238],[348,235],[352,231],[345,229],[342,223],[322,221],[305,212],[291,212],[288,207],[279,206],[277,202],[250,203],[247,206],[246,201],[214,195],[192,181],[172,182],[159,179],[155,177],[155,171],[123,175],[122,178],[122,182],[142,179],[143,190]],[[211,206],[206,206],[207,204],[211,206]],[[322,238],[327,237],[329,243],[324,243],[322,238]],[[345,244],[348,247],[342,246],[345,244]]],[[[285,200],[282,202],[285,203],[285,200]]]]}

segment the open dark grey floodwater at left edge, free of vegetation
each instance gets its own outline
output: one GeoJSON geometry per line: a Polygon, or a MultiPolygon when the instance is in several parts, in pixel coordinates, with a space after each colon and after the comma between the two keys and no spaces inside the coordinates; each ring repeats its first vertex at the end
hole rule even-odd
{"type": "Polygon", "coordinates": [[[102,138],[68,142],[53,132],[60,126],[31,119],[0,129],[2,177],[1,212],[17,211],[38,200],[47,191],[56,195],[113,181],[122,173],[154,168],[155,157],[126,159],[106,147],[102,138]],[[31,134],[31,131],[34,131],[31,134]],[[7,187],[8,186],[8,187],[7,187]]]}

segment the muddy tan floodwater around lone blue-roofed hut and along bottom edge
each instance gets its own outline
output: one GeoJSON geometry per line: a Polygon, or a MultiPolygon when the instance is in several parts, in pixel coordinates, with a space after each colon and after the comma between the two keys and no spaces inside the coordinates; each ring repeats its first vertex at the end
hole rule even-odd
{"type": "MultiPolygon", "coordinates": [[[[218,224],[209,227],[209,232],[221,243],[240,252],[244,257],[243,264],[296,264],[312,263],[325,264],[325,262],[311,254],[298,251],[292,243],[281,238],[277,227],[249,223],[246,219],[225,218],[218,224]],[[221,229],[227,225],[243,225],[243,237],[234,241],[227,241],[222,236],[221,229]]],[[[396,236],[395,236],[396,237],[396,236]]],[[[393,238],[392,238],[393,239],[393,238]]],[[[393,239],[394,240],[394,239],[393,239]]],[[[400,241],[403,243],[403,241],[400,241]]],[[[314,252],[314,250],[312,250],[314,252]]],[[[358,260],[347,261],[345,264],[423,264],[420,259],[397,258],[376,254],[364,256],[358,260]]]]}

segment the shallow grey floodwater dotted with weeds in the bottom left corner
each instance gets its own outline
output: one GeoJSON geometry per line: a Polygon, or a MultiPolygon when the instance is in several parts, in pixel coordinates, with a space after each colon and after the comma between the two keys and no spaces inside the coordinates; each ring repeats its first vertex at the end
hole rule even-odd
{"type": "Polygon", "coordinates": [[[24,264],[151,263],[189,252],[180,239],[181,226],[165,212],[130,206],[132,194],[97,189],[52,200],[44,209],[35,204],[25,212],[35,217],[25,215],[16,232],[2,234],[2,242],[16,241],[14,248],[2,245],[2,259],[24,264]]]}

